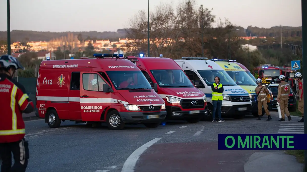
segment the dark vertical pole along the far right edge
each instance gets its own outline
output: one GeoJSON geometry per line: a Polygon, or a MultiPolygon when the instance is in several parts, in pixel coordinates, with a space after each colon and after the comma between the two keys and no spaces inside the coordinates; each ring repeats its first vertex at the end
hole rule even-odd
{"type": "MultiPolygon", "coordinates": [[[[304,50],[307,50],[307,1],[301,0],[301,6],[302,6],[302,41],[303,41],[303,47],[302,47],[302,64],[307,62],[307,53],[304,50]]],[[[307,69],[303,68],[303,80],[307,80],[307,69]]],[[[303,85],[303,90],[307,90],[307,84],[303,85]]],[[[307,99],[307,94],[303,95],[304,99],[307,99]]],[[[307,105],[304,102],[304,111],[307,110],[307,105]]],[[[307,134],[307,121],[306,119],[304,120],[304,133],[307,134]]],[[[305,172],[307,172],[307,166],[306,166],[306,161],[307,161],[307,150],[305,150],[305,172]]]]}

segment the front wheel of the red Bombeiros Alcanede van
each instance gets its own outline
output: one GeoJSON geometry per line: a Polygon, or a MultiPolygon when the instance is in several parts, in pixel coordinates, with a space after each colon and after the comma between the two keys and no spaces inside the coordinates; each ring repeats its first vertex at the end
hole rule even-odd
{"type": "Polygon", "coordinates": [[[121,130],[125,127],[125,123],[122,122],[118,111],[112,110],[107,114],[107,126],[111,130],[121,130]]]}

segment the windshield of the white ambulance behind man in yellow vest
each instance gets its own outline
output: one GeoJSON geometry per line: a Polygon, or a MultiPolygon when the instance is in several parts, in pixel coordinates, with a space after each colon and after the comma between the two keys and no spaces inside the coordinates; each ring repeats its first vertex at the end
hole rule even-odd
{"type": "Polygon", "coordinates": [[[214,78],[220,77],[220,83],[225,86],[237,85],[224,70],[197,70],[208,86],[215,83],[214,78]]]}

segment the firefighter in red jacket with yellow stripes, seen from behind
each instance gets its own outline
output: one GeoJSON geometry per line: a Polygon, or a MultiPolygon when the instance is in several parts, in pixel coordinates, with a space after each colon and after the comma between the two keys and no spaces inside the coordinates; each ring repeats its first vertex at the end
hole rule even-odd
{"type": "Polygon", "coordinates": [[[24,172],[28,166],[29,148],[25,141],[22,113],[33,112],[33,102],[25,88],[12,79],[17,69],[25,69],[16,58],[0,56],[0,159],[1,172],[24,172]],[[12,153],[14,165],[12,166],[12,153]]]}

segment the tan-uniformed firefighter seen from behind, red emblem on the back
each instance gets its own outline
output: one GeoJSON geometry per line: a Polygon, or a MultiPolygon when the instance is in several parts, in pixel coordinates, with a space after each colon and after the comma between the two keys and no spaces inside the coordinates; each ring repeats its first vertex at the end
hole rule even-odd
{"type": "Polygon", "coordinates": [[[290,94],[290,84],[286,82],[284,75],[279,76],[280,84],[278,85],[277,102],[280,103],[280,111],[282,118],[278,121],[286,121],[285,113],[288,117],[288,121],[291,121],[290,112],[288,110],[288,98],[290,94]]]}

